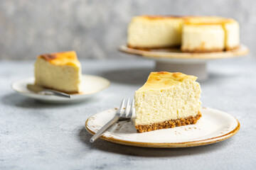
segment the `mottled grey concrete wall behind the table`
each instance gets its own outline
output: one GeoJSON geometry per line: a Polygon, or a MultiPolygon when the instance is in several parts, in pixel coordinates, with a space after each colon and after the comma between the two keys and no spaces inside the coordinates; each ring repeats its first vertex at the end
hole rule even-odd
{"type": "Polygon", "coordinates": [[[0,59],[28,60],[75,50],[79,58],[128,57],[117,52],[127,24],[142,14],[217,15],[240,22],[241,42],[256,52],[254,0],[2,0],[0,59]]]}

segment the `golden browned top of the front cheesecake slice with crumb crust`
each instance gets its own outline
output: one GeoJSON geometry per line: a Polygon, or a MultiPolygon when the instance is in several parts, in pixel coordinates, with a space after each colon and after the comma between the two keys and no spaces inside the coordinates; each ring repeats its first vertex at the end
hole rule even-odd
{"type": "Polygon", "coordinates": [[[151,72],[146,83],[138,91],[164,89],[170,86],[175,86],[188,79],[196,81],[197,77],[180,72],[151,72]]]}

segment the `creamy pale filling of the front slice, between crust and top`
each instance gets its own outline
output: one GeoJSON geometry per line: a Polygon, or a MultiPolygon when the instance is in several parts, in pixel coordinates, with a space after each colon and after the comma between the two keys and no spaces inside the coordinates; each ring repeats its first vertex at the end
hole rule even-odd
{"type": "Polygon", "coordinates": [[[151,125],[196,116],[201,109],[200,94],[200,85],[192,79],[165,89],[136,91],[135,125],[151,125]]]}

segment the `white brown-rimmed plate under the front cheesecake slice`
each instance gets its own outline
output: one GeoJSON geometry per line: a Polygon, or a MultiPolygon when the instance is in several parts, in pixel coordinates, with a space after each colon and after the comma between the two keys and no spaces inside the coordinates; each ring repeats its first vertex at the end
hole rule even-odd
{"type": "MultiPolygon", "coordinates": [[[[132,121],[120,121],[102,135],[102,140],[137,147],[196,147],[232,137],[240,129],[236,118],[213,108],[202,108],[195,125],[138,133],[132,121]]],[[[116,108],[92,115],[85,128],[92,135],[114,117],[116,108]]]]}

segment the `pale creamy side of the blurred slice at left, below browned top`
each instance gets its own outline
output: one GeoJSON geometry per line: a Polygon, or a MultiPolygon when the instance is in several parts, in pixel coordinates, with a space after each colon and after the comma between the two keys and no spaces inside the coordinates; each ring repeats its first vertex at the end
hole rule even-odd
{"type": "Polygon", "coordinates": [[[81,90],[80,63],[51,64],[47,60],[38,57],[35,63],[35,84],[45,86],[70,94],[79,93],[81,90]]]}

